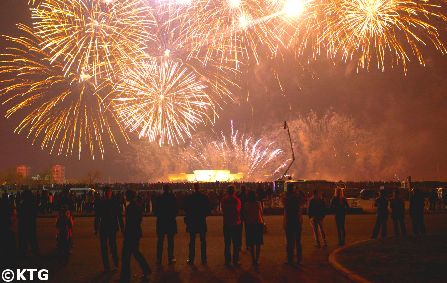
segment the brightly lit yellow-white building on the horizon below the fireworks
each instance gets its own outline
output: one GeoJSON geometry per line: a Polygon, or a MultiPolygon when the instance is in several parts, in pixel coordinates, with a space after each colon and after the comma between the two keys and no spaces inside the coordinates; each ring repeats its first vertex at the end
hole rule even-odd
{"type": "Polygon", "coordinates": [[[194,170],[192,174],[169,174],[169,181],[216,182],[240,181],[243,173],[230,173],[229,170],[194,170]]]}

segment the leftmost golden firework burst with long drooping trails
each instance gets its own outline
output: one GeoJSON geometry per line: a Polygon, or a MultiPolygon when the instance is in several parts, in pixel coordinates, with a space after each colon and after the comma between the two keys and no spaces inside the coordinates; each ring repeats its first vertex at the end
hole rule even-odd
{"type": "Polygon", "coordinates": [[[27,36],[7,37],[7,41],[17,47],[8,48],[13,51],[11,54],[1,55],[5,59],[0,65],[1,74],[12,76],[2,82],[8,84],[0,90],[3,104],[17,103],[7,111],[6,117],[31,111],[15,131],[29,128],[28,137],[34,135],[33,143],[43,138],[42,149],[50,147],[50,153],[57,150],[58,155],[77,152],[79,159],[85,146],[93,159],[96,147],[103,158],[106,140],[118,149],[109,123],[126,141],[127,135],[100,95],[104,88],[110,88],[109,83],[103,81],[96,85],[86,74],[64,71],[58,59],[51,62],[50,55],[40,49],[39,39],[33,36],[30,28],[23,25],[19,28],[27,36]]]}

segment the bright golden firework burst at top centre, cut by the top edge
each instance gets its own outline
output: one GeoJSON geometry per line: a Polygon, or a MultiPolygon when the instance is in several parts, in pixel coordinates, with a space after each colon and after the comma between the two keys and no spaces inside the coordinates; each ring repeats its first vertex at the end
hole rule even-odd
{"type": "Polygon", "coordinates": [[[220,65],[258,62],[259,52],[271,57],[282,46],[279,35],[284,26],[275,11],[260,0],[198,0],[186,9],[192,24],[191,37],[197,40],[192,53],[213,58],[220,65]],[[262,51],[261,51],[262,50],[262,51]]]}

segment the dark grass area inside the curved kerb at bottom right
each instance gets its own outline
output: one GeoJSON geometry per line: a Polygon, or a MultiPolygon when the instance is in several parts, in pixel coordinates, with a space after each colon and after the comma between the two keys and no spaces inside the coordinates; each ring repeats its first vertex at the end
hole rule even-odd
{"type": "Polygon", "coordinates": [[[447,282],[447,235],[380,238],[343,249],[336,260],[374,283],[447,282]]]}

